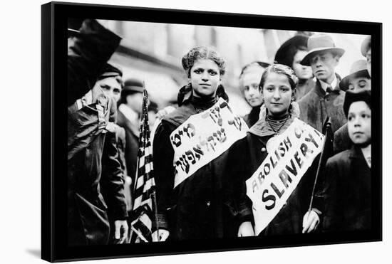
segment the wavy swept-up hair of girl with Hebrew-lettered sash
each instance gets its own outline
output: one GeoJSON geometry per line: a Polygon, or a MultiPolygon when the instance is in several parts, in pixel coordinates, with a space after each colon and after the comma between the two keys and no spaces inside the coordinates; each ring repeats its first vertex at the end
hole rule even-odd
{"type": "Polygon", "coordinates": [[[184,68],[188,78],[190,78],[190,69],[199,59],[213,60],[218,65],[220,75],[225,74],[226,61],[217,53],[215,48],[212,46],[197,46],[182,57],[182,68],[184,68]]]}

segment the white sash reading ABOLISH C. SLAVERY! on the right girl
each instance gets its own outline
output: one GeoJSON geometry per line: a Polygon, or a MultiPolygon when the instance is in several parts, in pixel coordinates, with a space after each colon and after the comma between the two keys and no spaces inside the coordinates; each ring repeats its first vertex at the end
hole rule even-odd
{"type": "Polygon", "coordinates": [[[247,179],[247,196],[252,200],[254,231],[257,235],[277,216],[302,176],[322,150],[324,135],[295,118],[247,179]]]}

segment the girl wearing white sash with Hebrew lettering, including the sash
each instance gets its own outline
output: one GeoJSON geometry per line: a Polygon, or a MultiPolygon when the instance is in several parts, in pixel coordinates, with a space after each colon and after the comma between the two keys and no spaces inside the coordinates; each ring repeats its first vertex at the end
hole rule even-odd
{"type": "Polygon", "coordinates": [[[246,136],[247,125],[227,104],[221,85],[225,60],[214,48],[192,48],[182,66],[189,83],[180,89],[179,107],[163,117],[153,142],[158,203],[153,238],[237,236],[244,213],[236,209],[233,194],[240,181],[229,179],[222,168],[227,149],[246,136]]]}

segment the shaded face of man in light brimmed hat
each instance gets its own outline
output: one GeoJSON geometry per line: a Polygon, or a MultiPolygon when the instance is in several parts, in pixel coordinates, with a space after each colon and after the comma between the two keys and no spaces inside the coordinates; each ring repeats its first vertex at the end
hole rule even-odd
{"type": "Polygon", "coordinates": [[[331,83],[334,80],[335,67],[339,63],[339,58],[331,52],[316,53],[310,59],[311,70],[317,79],[325,83],[331,83]]]}

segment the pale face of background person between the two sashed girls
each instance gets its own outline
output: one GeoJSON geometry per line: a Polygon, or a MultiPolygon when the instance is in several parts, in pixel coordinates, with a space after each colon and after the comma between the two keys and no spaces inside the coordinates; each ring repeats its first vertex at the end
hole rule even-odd
{"type": "Polygon", "coordinates": [[[264,70],[249,70],[244,73],[240,80],[240,85],[244,91],[245,100],[252,107],[257,107],[262,105],[262,96],[259,91],[259,83],[262,78],[262,73],[264,70]]]}

